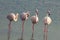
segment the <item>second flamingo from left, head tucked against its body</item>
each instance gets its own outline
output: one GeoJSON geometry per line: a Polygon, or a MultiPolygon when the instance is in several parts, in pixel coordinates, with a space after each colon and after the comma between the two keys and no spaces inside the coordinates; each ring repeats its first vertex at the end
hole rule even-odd
{"type": "Polygon", "coordinates": [[[20,15],[20,18],[21,18],[21,20],[22,20],[22,34],[21,34],[21,40],[23,40],[24,23],[25,23],[25,21],[28,19],[29,15],[30,15],[29,11],[23,12],[23,13],[20,15]]]}

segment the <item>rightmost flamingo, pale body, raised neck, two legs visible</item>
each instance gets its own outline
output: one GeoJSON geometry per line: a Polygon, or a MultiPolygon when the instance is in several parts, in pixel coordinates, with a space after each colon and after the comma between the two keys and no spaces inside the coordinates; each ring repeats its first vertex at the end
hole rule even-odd
{"type": "Polygon", "coordinates": [[[48,25],[51,24],[52,19],[50,18],[50,9],[47,11],[47,15],[44,17],[44,40],[47,40],[48,34],[48,25]]]}

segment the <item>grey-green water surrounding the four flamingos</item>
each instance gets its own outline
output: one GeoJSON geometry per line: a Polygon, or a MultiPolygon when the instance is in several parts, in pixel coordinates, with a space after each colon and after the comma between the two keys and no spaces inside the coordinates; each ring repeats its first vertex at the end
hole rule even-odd
{"type": "MultiPolygon", "coordinates": [[[[35,9],[39,9],[39,23],[35,25],[35,40],[43,40],[43,18],[48,8],[51,9],[52,23],[49,25],[48,40],[60,40],[60,0],[0,0],[0,40],[7,40],[9,13],[30,11],[34,15],[35,9]]],[[[10,40],[17,40],[21,37],[21,20],[12,22],[10,40]]],[[[32,23],[29,19],[25,22],[24,40],[30,40],[32,23]]]]}

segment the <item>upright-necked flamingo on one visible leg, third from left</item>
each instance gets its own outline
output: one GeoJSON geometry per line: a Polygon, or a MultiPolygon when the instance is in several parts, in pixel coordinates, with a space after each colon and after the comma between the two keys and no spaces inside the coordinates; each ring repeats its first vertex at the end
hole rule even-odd
{"type": "Polygon", "coordinates": [[[35,10],[35,14],[34,16],[31,17],[31,21],[32,21],[32,40],[34,40],[33,36],[34,36],[34,24],[37,24],[39,22],[39,18],[38,18],[38,9],[35,10]]]}

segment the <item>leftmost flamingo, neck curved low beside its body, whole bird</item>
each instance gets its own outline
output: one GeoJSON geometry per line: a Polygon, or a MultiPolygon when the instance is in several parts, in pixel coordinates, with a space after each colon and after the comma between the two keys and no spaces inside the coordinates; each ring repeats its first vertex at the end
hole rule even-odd
{"type": "Polygon", "coordinates": [[[7,15],[7,19],[9,20],[9,24],[8,24],[8,40],[10,40],[10,32],[11,32],[11,22],[12,21],[17,21],[18,20],[18,13],[17,14],[14,14],[14,13],[11,13],[9,15],[7,15]]]}

